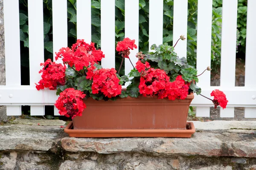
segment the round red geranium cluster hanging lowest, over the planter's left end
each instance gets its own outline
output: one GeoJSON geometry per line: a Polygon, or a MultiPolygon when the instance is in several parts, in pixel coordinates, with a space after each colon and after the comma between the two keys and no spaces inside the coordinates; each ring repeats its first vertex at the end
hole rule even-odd
{"type": "Polygon", "coordinates": [[[56,100],[55,106],[59,110],[60,115],[67,117],[82,116],[82,112],[86,108],[83,98],[86,95],[79,90],[67,88],[60,93],[56,100]]]}

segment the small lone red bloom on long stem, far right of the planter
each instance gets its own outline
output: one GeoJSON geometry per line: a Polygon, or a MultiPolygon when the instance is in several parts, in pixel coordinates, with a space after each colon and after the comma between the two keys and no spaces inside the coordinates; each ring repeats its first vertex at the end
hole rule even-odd
{"type": "Polygon", "coordinates": [[[212,101],[214,104],[214,108],[217,108],[218,105],[221,106],[223,109],[226,108],[228,100],[226,98],[226,95],[222,91],[216,89],[215,91],[212,91],[211,96],[214,96],[212,101]]]}

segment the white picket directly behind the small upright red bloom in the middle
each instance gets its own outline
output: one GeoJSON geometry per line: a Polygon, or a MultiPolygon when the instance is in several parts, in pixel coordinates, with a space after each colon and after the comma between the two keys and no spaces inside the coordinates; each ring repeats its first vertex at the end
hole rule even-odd
{"type": "MultiPolygon", "coordinates": [[[[136,54],[139,51],[139,0],[125,1],[125,37],[135,40],[137,49],[130,50],[129,55],[134,67],[138,59],[136,54]]],[[[133,69],[129,59],[125,59],[125,75],[128,75],[133,69]]]]}

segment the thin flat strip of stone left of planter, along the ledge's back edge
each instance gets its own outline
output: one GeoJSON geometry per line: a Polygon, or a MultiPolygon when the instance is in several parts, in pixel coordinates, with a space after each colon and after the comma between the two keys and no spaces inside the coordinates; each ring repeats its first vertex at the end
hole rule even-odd
{"type": "Polygon", "coordinates": [[[18,124],[18,125],[39,125],[40,126],[63,126],[66,124],[63,120],[31,120],[31,119],[15,119],[11,122],[11,124],[18,124]]]}

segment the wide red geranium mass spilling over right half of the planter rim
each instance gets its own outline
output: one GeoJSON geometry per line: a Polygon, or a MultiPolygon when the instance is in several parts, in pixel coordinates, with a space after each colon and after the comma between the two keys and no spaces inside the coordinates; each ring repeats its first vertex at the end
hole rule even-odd
{"type": "Polygon", "coordinates": [[[135,68],[140,74],[140,94],[158,95],[158,99],[168,97],[169,100],[185,99],[189,91],[189,83],[185,82],[181,76],[177,76],[174,82],[170,82],[170,77],[165,71],[150,68],[148,62],[143,64],[140,60],[136,63],[135,68]],[[146,70],[149,68],[148,70],[146,70]]]}

